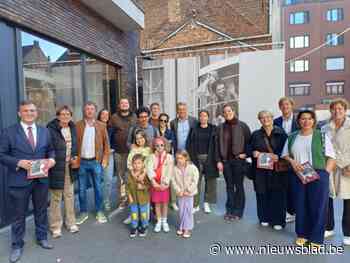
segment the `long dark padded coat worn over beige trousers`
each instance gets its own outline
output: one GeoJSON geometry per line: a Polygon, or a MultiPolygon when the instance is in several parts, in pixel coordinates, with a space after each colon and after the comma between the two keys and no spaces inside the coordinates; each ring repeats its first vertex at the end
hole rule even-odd
{"type": "MultiPolygon", "coordinates": [[[[66,166],[66,141],[61,133],[61,126],[59,121],[54,119],[51,121],[47,128],[50,131],[55,154],[56,154],[56,165],[49,171],[49,187],[51,189],[63,189],[64,188],[64,173],[66,166]]],[[[71,156],[77,156],[77,133],[74,123],[69,123],[69,128],[72,136],[72,152],[71,156]]],[[[77,176],[77,169],[71,169],[70,177],[72,182],[75,181],[77,176]]]]}

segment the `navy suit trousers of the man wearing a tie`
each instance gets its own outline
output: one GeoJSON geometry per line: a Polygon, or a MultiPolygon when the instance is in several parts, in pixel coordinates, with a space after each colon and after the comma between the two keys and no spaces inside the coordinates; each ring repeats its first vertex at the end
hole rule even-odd
{"type": "Polygon", "coordinates": [[[10,187],[9,189],[10,209],[12,211],[11,239],[12,248],[14,249],[24,246],[25,219],[28,213],[30,197],[32,197],[34,208],[36,240],[47,239],[48,184],[33,180],[28,186],[10,187]]]}

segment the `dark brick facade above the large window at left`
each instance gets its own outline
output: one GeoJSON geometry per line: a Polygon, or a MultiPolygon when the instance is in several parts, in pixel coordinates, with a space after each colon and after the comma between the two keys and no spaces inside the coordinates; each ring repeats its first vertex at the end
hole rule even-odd
{"type": "Polygon", "coordinates": [[[138,32],[119,30],[78,0],[1,0],[1,17],[120,65],[121,93],[132,95],[138,32]]]}

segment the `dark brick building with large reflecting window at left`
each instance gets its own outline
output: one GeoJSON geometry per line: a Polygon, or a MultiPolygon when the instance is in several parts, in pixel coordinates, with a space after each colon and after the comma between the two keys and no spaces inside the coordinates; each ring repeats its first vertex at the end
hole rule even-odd
{"type": "MultiPolygon", "coordinates": [[[[0,130],[17,121],[20,100],[39,108],[39,122],[58,106],[91,100],[115,111],[134,103],[135,64],[144,12],[137,0],[0,1],[0,130]]],[[[0,226],[8,223],[6,168],[0,166],[0,226]]]]}

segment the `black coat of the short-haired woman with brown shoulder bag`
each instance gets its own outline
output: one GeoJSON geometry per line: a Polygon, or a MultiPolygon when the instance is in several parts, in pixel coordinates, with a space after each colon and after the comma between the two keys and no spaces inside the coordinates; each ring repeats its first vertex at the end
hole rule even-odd
{"type": "MultiPolygon", "coordinates": [[[[253,132],[250,140],[250,151],[269,152],[266,146],[264,136],[266,132],[263,128],[253,132]]],[[[280,127],[274,126],[270,137],[270,145],[274,154],[281,155],[284,144],[287,140],[287,134],[280,127]]],[[[270,190],[286,190],[288,186],[288,173],[275,172],[266,169],[259,169],[256,166],[256,159],[253,158],[253,172],[255,173],[254,188],[257,193],[265,193],[270,190]]]]}

